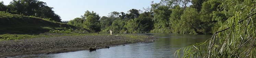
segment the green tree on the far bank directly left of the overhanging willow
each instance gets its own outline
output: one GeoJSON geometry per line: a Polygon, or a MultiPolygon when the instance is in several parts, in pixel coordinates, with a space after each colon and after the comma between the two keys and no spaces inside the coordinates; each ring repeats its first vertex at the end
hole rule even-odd
{"type": "Polygon", "coordinates": [[[201,28],[203,29],[203,34],[213,34],[218,29],[218,21],[212,20],[213,12],[217,11],[218,5],[220,5],[222,1],[219,0],[208,0],[207,2],[202,3],[202,9],[201,9],[201,20],[202,23],[200,23],[201,28]],[[214,28],[217,27],[217,28],[214,28]]]}

